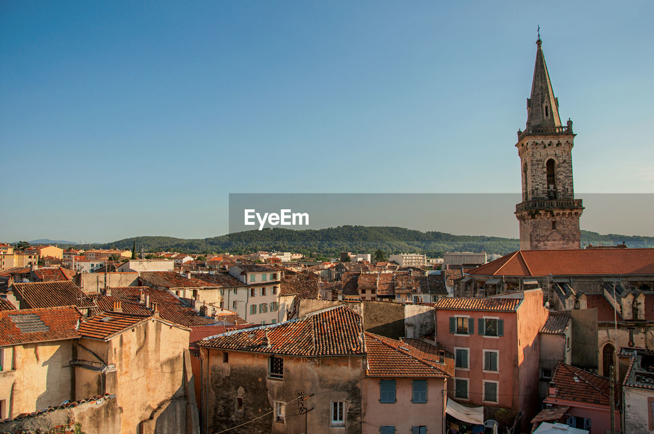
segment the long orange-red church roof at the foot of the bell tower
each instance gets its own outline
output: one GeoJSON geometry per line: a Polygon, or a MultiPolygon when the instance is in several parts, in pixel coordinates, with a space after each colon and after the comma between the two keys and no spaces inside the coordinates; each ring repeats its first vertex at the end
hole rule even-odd
{"type": "Polygon", "coordinates": [[[654,275],[654,248],[518,250],[472,276],[654,275]]]}

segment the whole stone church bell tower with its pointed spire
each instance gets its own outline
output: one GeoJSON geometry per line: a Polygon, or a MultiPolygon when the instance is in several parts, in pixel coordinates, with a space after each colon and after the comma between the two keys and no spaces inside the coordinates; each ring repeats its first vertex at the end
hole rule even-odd
{"type": "Polygon", "coordinates": [[[572,188],[572,121],[561,125],[559,99],[554,96],[536,41],[536,65],[527,99],[525,131],[518,131],[523,201],[515,206],[520,224],[520,249],[581,248],[581,199],[572,188]]]}

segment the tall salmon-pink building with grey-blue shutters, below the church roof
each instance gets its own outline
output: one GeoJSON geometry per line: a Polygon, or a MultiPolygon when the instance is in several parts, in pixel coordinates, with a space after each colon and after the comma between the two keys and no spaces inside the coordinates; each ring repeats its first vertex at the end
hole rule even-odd
{"type": "Polygon", "coordinates": [[[538,332],[547,321],[540,289],[436,303],[435,340],[455,356],[449,395],[466,405],[523,410],[523,429],[538,412],[538,332]]]}

